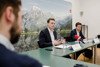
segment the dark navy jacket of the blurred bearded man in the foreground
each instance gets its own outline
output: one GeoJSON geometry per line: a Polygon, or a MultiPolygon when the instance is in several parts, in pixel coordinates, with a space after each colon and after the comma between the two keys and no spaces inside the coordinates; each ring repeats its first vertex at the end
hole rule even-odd
{"type": "Polygon", "coordinates": [[[0,44],[0,67],[42,67],[35,59],[8,50],[0,44]]]}

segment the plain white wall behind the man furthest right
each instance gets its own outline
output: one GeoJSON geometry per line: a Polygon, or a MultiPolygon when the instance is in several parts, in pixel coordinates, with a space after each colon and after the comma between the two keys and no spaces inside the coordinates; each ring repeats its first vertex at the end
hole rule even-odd
{"type": "Polygon", "coordinates": [[[100,34],[100,0],[73,0],[73,28],[75,22],[80,21],[88,25],[88,37],[93,38],[100,34]],[[83,16],[80,17],[80,11],[83,16]]]}

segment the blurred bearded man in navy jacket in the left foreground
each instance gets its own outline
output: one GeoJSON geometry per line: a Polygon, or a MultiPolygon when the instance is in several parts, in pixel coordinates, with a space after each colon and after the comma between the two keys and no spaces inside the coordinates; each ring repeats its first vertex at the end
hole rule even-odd
{"type": "Polygon", "coordinates": [[[15,52],[22,31],[21,1],[0,0],[0,67],[42,67],[35,59],[15,52]]]}

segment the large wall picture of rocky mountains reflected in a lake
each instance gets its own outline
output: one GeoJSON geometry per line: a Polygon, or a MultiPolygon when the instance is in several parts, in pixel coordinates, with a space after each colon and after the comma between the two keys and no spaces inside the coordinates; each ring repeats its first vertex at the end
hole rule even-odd
{"type": "Polygon", "coordinates": [[[47,27],[47,19],[55,18],[58,39],[72,30],[72,3],[67,0],[22,0],[23,31],[15,44],[18,52],[38,49],[38,37],[47,27]]]}

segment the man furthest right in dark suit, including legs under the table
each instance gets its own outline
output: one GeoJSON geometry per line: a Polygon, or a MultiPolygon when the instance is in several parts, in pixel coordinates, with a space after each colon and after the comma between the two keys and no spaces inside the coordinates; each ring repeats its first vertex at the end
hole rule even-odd
{"type": "MultiPolygon", "coordinates": [[[[84,37],[84,35],[82,34],[82,31],[81,31],[81,28],[82,28],[82,24],[81,23],[79,23],[79,22],[77,22],[76,23],[76,29],[73,29],[72,31],[71,31],[71,34],[70,34],[70,36],[71,36],[71,41],[80,41],[80,39],[82,40],[82,41],[87,41],[88,39],[86,39],[85,37],[84,37]],[[75,35],[77,35],[77,36],[79,36],[78,38],[77,37],[75,37],[75,35]]],[[[76,59],[78,58],[78,56],[81,54],[81,53],[83,53],[83,52],[88,52],[88,54],[90,54],[90,56],[88,56],[88,55],[86,55],[86,57],[88,56],[88,58],[92,58],[92,51],[91,50],[89,50],[89,49],[85,49],[85,50],[82,50],[82,51],[79,51],[79,52],[77,52],[76,53],[76,59]]]]}

